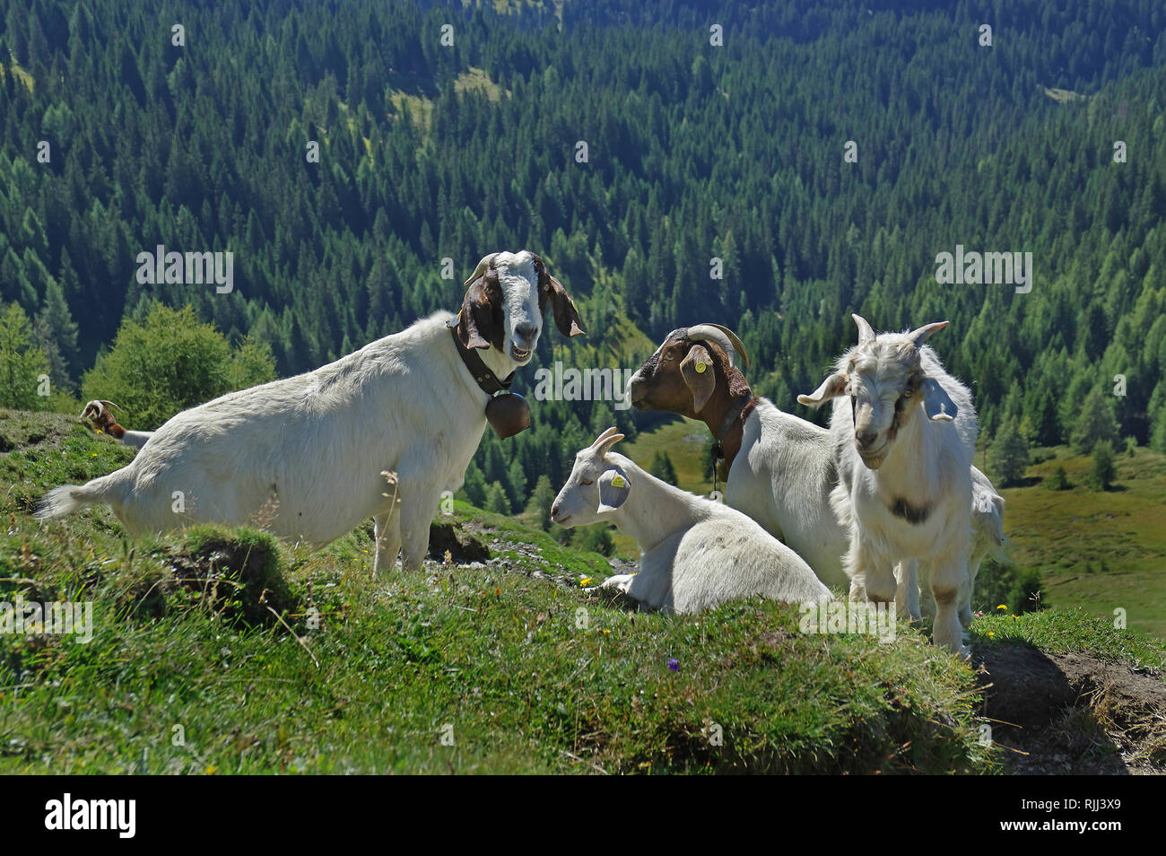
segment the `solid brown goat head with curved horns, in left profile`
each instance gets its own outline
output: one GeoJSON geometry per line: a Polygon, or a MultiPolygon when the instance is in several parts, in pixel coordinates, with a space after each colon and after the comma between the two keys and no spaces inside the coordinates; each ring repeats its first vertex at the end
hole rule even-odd
{"type": "Polygon", "coordinates": [[[717,385],[730,387],[735,380],[731,370],[738,363],[747,369],[749,355],[729,328],[682,327],[668,334],[655,353],[635,370],[627,383],[627,395],[638,411],[667,411],[697,419],[717,385]]]}

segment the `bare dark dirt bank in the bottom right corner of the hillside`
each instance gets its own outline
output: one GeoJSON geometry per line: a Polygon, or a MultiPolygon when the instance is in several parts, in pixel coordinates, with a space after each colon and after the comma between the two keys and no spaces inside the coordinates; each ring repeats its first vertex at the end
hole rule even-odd
{"type": "Polygon", "coordinates": [[[988,652],[981,685],[1012,772],[1166,773],[1166,683],[1154,675],[1017,643],[988,652]]]}

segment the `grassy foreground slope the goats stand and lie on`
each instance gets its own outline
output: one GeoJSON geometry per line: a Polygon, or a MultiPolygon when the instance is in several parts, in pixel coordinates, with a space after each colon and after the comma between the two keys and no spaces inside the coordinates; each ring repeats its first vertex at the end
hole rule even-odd
{"type": "MultiPolygon", "coordinates": [[[[0,772],[1012,769],[983,739],[984,676],[902,624],[879,645],[803,634],[796,608],[757,601],[633,612],[583,591],[602,556],[462,504],[455,527],[487,561],[384,581],[367,525],[318,553],[217,527],[132,543],[106,508],[26,514],[128,450],[7,412],[0,449],[0,599],[94,604],[87,644],[0,634],[0,772]]],[[[1072,615],[977,622],[978,658],[1018,643],[1163,685],[1166,653],[1136,633],[1072,615]]],[[[1086,720],[1088,764],[1161,762],[1157,732],[1130,750],[1112,736],[1129,717],[1086,720]]]]}

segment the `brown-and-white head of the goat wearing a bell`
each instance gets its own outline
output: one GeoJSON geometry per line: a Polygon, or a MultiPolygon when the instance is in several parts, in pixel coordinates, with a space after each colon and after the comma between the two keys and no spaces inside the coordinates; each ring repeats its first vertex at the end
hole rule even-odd
{"type": "Polygon", "coordinates": [[[466,348],[494,348],[515,365],[531,362],[550,303],[563,336],[581,336],[580,316],[562,283],[534,253],[491,253],[465,281],[462,311],[450,322],[466,348]]]}

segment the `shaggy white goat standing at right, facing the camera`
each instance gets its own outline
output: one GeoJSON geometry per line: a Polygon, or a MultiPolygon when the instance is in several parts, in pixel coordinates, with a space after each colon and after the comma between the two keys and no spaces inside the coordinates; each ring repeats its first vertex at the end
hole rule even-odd
{"type": "Polygon", "coordinates": [[[798,397],[812,407],[845,397],[830,419],[841,475],[831,501],[850,531],[851,597],[895,599],[891,569],[915,560],[935,598],[935,643],[965,654],[957,609],[970,585],[978,425],[971,393],[923,344],[948,322],[876,336],[852,317],[858,344],[816,391],[798,397]]]}

